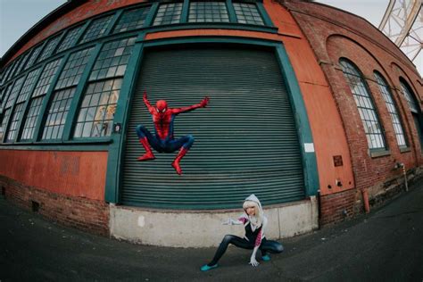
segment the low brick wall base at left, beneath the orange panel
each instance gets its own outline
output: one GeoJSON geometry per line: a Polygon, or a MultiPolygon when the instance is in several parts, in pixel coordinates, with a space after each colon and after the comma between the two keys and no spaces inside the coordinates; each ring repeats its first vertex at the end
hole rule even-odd
{"type": "Polygon", "coordinates": [[[3,176],[0,176],[0,187],[4,189],[6,200],[28,211],[33,210],[34,203],[39,203],[37,212],[48,220],[97,235],[109,236],[109,206],[103,201],[56,194],[22,185],[3,176]]]}

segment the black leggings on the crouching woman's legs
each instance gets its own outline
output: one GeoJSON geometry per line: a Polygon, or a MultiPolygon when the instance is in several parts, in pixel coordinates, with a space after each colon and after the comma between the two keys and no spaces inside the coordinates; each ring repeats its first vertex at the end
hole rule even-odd
{"type": "MultiPolygon", "coordinates": [[[[219,245],[218,250],[214,254],[213,260],[208,264],[208,266],[212,266],[218,263],[223,253],[225,253],[228,249],[229,244],[236,245],[237,247],[248,250],[253,250],[254,248],[254,243],[248,241],[245,238],[241,238],[235,235],[224,236],[222,242],[219,245]]],[[[279,242],[266,240],[266,238],[263,238],[261,240],[261,245],[259,249],[261,251],[262,256],[266,255],[267,252],[282,253],[284,251],[284,247],[279,242]]]]}

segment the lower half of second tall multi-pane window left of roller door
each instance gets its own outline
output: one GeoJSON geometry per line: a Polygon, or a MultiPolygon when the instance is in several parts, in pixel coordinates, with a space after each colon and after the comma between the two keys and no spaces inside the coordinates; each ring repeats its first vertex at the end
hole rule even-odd
{"type": "Polygon", "coordinates": [[[43,130],[43,140],[62,138],[64,123],[68,116],[75,90],[76,87],[71,87],[54,92],[43,130]]]}

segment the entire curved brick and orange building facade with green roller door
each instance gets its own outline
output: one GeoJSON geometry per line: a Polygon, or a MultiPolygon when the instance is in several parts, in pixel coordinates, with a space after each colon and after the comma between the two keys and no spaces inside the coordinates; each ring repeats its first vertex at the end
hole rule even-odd
{"type": "Polygon", "coordinates": [[[344,220],[422,177],[415,66],[368,21],[303,1],[71,1],[1,62],[0,184],[62,224],[148,245],[217,245],[255,194],[268,236],[344,220]],[[210,104],[145,153],[143,100],[210,104]],[[211,231],[212,230],[212,231],[211,231]]]}

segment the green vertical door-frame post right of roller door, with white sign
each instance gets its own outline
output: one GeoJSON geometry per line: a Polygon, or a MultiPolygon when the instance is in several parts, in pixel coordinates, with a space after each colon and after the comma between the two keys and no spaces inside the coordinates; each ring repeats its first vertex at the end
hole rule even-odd
{"type": "Polygon", "coordinates": [[[303,101],[303,94],[298,84],[298,80],[296,79],[292,64],[286,54],[285,47],[281,44],[276,46],[276,52],[281,66],[282,76],[285,79],[286,88],[292,102],[294,119],[298,130],[301,153],[303,155],[305,195],[317,195],[319,190],[319,171],[309,118],[303,101]],[[306,146],[309,148],[307,149],[306,146]]]}

